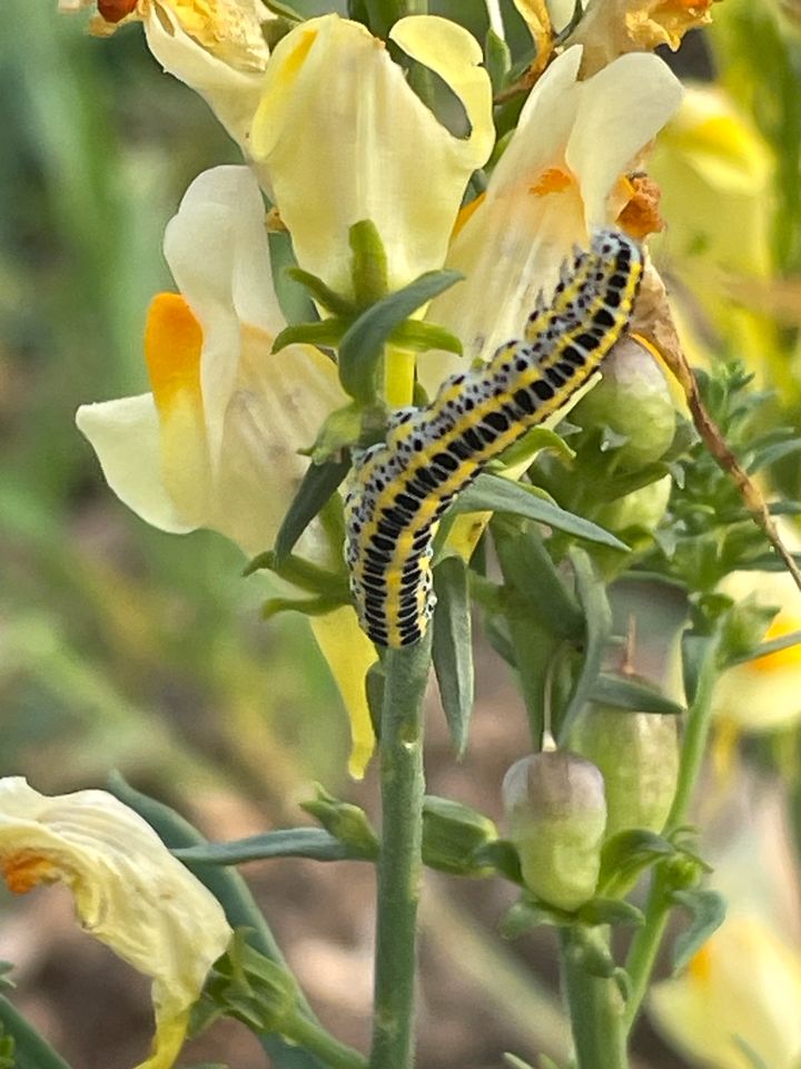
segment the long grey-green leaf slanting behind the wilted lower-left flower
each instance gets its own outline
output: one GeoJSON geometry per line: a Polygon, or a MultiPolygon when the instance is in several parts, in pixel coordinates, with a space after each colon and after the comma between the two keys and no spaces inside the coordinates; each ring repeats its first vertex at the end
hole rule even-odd
{"type": "MultiPolygon", "coordinates": [[[[118,772],[112,772],[108,788],[120,802],[144,817],[170,850],[208,845],[202,835],[168,805],[135,791],[118,772]]],[[[231,928],[247,930],[247,941],[259,953],[286,968],[286,961],[270,928],[238,872],[218,865],[185,862],[200,883],[208,887],[225,910],[231,928]]],[[[300,1006],[309,1020],[315,1017],[301,998],[300,1006]]],[[[319,1059],[280,1036],[260,1036],[259,1042],[273,1059],[276,1069],[323,1069],[319,1059]]],[[[20,1066],[20,1069],[50,1069],[47,1062],[20,1066]]],[[[53,1069],[57,1069],[53,1066],[53,1069]]]]}

